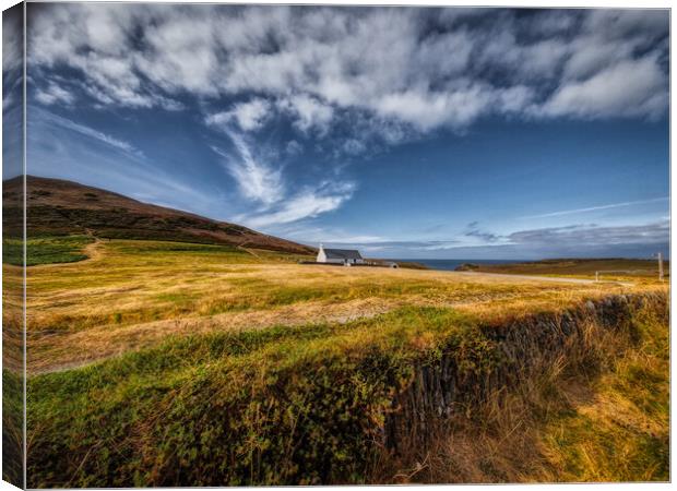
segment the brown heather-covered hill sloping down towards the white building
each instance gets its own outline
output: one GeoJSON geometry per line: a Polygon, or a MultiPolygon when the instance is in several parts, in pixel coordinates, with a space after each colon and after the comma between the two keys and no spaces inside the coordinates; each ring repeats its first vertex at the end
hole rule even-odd
{"type": "MultiPolygon", "coordinates": [[[[8,236],[21,224],[21,178],[3,182],[8,236]]],[[[29,237],[94,235],[108,239],[147,239],[228,244],[310,254],[313,249],[236,224],[156,206],[78,182],[26,177],[29,237]]],[[[14,233],[13,233],[14,232],[14,233]]]]}

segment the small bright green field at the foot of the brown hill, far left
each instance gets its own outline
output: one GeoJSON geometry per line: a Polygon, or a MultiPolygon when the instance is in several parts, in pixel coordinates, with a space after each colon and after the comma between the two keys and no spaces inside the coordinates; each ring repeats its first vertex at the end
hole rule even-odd
{"type": "MultiPolygon", "coordinates": [[[[26,265],[73,263],[87,259],[83,248],[94,239],[87,236],[54,236],[29,238],[26,242],[26,265]]],[[[2,241],[3,262],[15,266],[23,265],[23,241],[4,239],[2,241]]]]}

